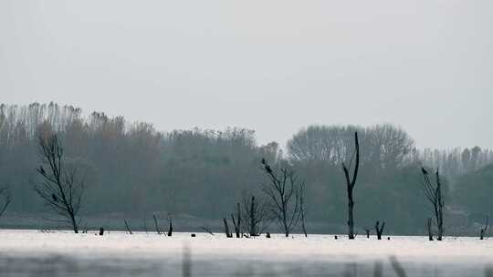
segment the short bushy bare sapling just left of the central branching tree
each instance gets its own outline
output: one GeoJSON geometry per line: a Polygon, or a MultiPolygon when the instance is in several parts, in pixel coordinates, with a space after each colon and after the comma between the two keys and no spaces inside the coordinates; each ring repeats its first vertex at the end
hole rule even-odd
{"type": "Polygon", "coordinates": [[[243,214],[241,217],[245,221],[245,232],[250,237],[259,236],[268,227],[270,221],[267,205],[263,201],[259,201],[255,196],[243,199],[243,214]]]}

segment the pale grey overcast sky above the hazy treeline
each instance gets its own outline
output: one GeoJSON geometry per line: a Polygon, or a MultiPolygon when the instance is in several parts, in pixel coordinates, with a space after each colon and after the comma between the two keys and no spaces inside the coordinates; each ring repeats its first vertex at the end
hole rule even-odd
{"type": "Polygon", "coordinates": [[[0,1],[0,102],[160,130],[394,123],[493,148],[493,1],[0,1]]]}

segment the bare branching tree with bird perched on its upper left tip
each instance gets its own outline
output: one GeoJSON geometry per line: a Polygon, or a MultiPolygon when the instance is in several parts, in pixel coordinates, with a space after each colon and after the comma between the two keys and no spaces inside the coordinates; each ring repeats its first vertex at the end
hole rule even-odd
{"type": "Polygon", "coordinates": [[[263,190],[271,200],[270,210],[279,228],[288,237],[301,215],[299,187],[302,182],[299,182],[294,170],[287,165],[272,169],[266,159],[262,159],[262,164],[269,180],[264,184],[263,190]]]}

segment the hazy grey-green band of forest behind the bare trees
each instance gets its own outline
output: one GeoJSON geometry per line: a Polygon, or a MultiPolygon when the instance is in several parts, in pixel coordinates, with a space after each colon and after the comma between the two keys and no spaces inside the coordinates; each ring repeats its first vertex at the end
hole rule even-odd
{"type": "Polygon", "coordinates": [[[390,124],[312,125],[282,148],[274,141],[258,145],[255,131],[247,128],[162,132],[102,112],[83,117],[80,108],[52,102],[0,106],[0,185],[13,197],[8,212],[47,211],[32,190],[40,181],[41,130],[58,134],[70,162],[83,169],[84,215],[165,211],[222,219],[242,198],[262,197],[266,180],[260,160],[265,158],[287,162],[306,181],[307,221],[338,230],[346,221],[341,163],[351,162],[355,131],[362,157],[354,193],[359,230],[376,220],[397,233],[425,230],[429,211],[420,188],[421,166],[438,168],[445,177],[451,224],[473,226],[493,211],[491,149],[417,149],[404,129],[390,124]]]}

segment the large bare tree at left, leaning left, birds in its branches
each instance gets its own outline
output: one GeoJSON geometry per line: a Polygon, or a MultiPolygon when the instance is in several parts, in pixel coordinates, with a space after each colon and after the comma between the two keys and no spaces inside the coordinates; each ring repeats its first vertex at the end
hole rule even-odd
{"type": "Polygon", "coordinates": [[[40,134],[37,141],[39,159],[42,162],[37,172],[43,177],[43,181],[35,185],[34,190],[78,233],[79,222],[76,218],[84,192],[84,179],[79,178],[77,166],[68,165],[56,134],[40,134]]]}

